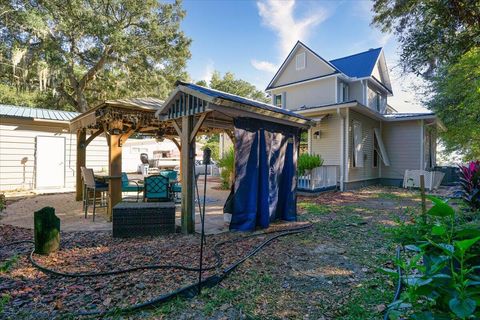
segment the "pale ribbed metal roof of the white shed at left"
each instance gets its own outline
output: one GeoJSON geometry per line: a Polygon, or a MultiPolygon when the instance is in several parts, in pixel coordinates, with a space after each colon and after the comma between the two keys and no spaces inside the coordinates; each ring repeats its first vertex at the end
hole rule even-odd
{"type": "Polygon", "coordinates": [[[0,104],[0,117],[44,119],[56,121],[70,121],[80,113],[62,110],[51,110],[42,108],[18,107],[7,104],[0,104]]]}

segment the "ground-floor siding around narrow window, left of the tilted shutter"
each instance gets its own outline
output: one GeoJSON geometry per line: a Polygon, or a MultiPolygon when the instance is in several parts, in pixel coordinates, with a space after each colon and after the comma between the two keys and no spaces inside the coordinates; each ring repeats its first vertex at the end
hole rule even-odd
{"type": "Polygon", "coordinates": [[[380,122],[366,117],[358,112],[350,110],[350,129],[348,137],[348,181],[354,182],[360,180],[369,180],[379,178],[379,168],[373,167],[373,129],[380,128],[380,122]],[[363,166],[352,167],[353,156],[353,122],[358,121],[362,124],[362,144],[363,144],[363,166]]]}

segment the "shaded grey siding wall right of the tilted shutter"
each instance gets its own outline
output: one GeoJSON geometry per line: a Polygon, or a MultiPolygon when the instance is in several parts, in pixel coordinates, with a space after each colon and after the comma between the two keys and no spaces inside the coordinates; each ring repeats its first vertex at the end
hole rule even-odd
{"type": "Polygon", "coordinates": [[[420,121],[384,122],[382,138],[390,166],[382,164],[382,178],[403,179],[405,170],[420,169],[420,121]]]}

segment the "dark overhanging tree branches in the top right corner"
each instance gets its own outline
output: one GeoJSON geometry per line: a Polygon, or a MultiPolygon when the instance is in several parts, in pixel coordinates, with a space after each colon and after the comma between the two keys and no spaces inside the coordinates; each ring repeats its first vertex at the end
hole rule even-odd
{"type": "Polygon", "coordinates": [[[394,32],[404,71],[426,79],[480,44],[478,0],[374,0],[373,24],[394,32]]]}

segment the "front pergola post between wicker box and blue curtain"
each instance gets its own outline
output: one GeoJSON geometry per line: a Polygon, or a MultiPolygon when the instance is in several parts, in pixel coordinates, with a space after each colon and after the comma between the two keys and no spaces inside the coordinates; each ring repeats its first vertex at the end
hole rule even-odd
{"type": "Polygon", "coordinates": [[[194,176],[193,166],[195,165],[195,140],[190,136],[193,132],[194,117],[182,117],[182,129],[180,135],[181,146],[181,168],[182,168],[182,232],[195,232],[195,210],[194,210],[194,176]]]}

